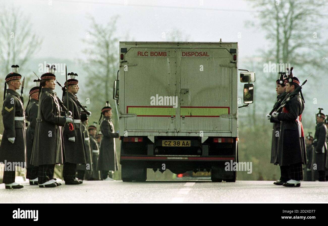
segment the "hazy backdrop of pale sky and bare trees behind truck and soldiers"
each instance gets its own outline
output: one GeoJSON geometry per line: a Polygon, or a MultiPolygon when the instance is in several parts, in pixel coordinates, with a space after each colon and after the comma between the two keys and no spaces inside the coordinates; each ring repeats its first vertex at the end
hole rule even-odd
{"type": "MultiPolygon", "coordinates": [[[[276,180],[280,172],[270,164],[272,124],[265,115],[276,99],[278,75],[264,73],[263,64],[291,63],[301,82],[314,73],[302,89],[306,102],[303,125],[306,133],[314,132],[318,107],[328,114],[325,11],[325,1],[320,0],[0,0],[0,82],[4,83],[12,64],[22,65],[27,102],[36,78],[31,71],[41,76],[44,71],[39,71],[39,64],[45,61],[66,64],[68,72],[78,74],[81,102],[90,99],[92,124],[107,100],[115,106],[112,86],[118,70],[118,41],[217,42],[222,38],[223,42],[238,42],[239,68],[255,71],[256,82],[255,102],[238,112],[239,161],[252,161],[253,173],[238,173],[237,179],[276,180]]],[[[65,76],[56,76],[63,84],[65,76]]],[[[242,86],[239,84],[240,97],[242,86]]],[[[58,86],[55,91],[61,97],[58,86]]],[[[116,114],[113,119],[117,130],[116,114]]],[[[120,178],[120,171],[115,177],[120,178]]],[[[170,179],[172,174],[157,171],[148,173],[148,178],[170,179]]]]}

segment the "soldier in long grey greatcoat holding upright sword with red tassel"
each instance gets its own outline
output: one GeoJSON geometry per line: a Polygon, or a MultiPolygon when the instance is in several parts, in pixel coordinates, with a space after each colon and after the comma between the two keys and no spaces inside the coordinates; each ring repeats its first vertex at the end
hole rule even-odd
{"type": "Polygon", "coordinates": [[[40,188],[53,188],[61,185],[53,179],[56,164],[63,164],[62,126],[72,123],[72,117],[61,116],[60,100],[53,90],[56,79],[52,68],[41,75],[39,110],[36,119],[31,165],[38,166],[40,188]]]}

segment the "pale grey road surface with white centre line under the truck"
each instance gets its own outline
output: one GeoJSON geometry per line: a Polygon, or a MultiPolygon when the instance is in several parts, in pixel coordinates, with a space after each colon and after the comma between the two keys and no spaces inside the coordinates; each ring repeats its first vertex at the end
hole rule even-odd
{"type": "Polygon", "coordinates": [[[0,184],[0,203],[188,203],[188,202],[328,202],[328,182],[301,182],[287,188],[273,181],[213,183],[204,180],[84,181],[81,185],[23,189],[0,184]]]}

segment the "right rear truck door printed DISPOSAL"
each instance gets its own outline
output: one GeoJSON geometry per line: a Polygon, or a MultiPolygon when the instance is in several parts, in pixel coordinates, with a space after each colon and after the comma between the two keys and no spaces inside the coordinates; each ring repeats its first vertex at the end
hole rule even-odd
{"type": "Polygon", "coordinates": [[[178,51],[181,132],[232,132],[231,54],[225,48],[178,51]]]}

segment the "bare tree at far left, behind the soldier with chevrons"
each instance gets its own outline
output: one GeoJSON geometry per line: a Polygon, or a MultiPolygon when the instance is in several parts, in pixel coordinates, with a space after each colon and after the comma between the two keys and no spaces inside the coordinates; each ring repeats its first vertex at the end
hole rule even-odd
{"type": "Polygon", "coordinates": [[[42,39],[32,32],[29,16],[17,8],[0,9],[0,73],[11,71],[12,64],[23,67],[40,50],[42,39]]]}

